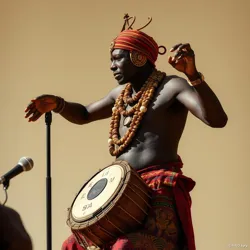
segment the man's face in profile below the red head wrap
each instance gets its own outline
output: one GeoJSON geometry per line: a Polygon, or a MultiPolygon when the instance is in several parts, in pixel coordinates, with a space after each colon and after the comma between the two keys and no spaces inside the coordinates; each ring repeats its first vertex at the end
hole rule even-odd
{"type": "Polygon", "coordinates": [[[122,49],[114,49],[111,52],[110,69],[120,85],[128,83],[138,72],[138,68],[129,58],[129,51],[122,49]]]}

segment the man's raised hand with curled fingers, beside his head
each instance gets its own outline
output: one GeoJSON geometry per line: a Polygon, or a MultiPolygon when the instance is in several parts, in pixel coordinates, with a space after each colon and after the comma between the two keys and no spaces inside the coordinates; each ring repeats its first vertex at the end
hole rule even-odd
{"type": "Polygon", "coordinates": [[[196,78],[198,71],[195,65],[195,54],[189,43],[177,44],[170,49],[175,52],[168,58],[168,62],[178,71],[184,73],[188,78],[196,78]]]}

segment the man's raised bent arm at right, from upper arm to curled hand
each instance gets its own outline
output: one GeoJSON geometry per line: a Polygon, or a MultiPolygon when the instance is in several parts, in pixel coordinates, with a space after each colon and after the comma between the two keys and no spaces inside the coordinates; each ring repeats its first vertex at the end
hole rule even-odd
{"type": "Polygon", "coordinates": [[[211,127],[221,128],[227,124],[227,115],[222,105],[205,82],[202,74],[198,73],[195,65],[195,54],[190,44],[177,44],[170,52],[168,62],[178,71],[184,73],[190,84],[182,78],[176,80],[176,98],[187,109],[204,123],[211,127]]]}

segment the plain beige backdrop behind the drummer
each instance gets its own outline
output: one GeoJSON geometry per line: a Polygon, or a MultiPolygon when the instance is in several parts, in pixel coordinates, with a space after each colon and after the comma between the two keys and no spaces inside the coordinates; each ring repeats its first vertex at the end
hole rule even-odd
{"type": "MultiPolygon", "coordinates": [[[[34,249],[46,249],[45,122],[28,123],[24,109],[43,93],[88,104],[116,86],[109,44],[126,12],[137,16],[135,27],[151,15],[144,31],[159,45],[191,43],[198,69],[229,116],[225,128],[212,129],[190,115],[180,143],[184,172],[197,182],[191,193],[197,249],[250,247],[249,0],[1,0],[0,172],[25,155],[35,162],[12,180],[7,204],[20,212],[34,249]]],[[[167,56],[157,67],[176,73],[167,56]]],[[[113,160],[108,130],[108,120],[82,127],[53,115],[53,249],[69,235],[67,208],[83,181],[113,160]]]]}

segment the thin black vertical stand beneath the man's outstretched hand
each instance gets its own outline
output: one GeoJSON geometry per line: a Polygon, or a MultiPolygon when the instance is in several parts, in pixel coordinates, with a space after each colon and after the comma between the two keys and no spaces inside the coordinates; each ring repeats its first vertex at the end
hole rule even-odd
{"type": "Polygon", "coordinates": [[[47,176],[46,176],[46,217],[47,217],[47,250],[52,250],[52,223],[51,223],[51,147],[50,125],[52,113],[45,114],[46,123],[46,151],[47,151],[47,176]]]}

